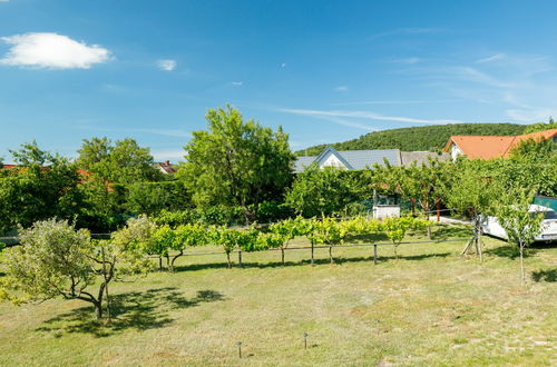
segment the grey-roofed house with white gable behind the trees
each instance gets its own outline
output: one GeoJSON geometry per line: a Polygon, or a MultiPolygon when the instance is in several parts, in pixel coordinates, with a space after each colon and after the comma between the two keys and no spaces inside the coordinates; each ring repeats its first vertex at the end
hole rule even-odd
{"type": "Polygon", "coordinates": [[[336,150],[326,147],[316,157],[297,157],[294,163],[294,172],[303,172],[312,163],[319,167],[338,167],[342,169],[365,169],[374,163],[384,165],[384,160],[391,166],[410,166],[412,162],[421,165],[428,162],[428,157],[437,157],[439,160],[447,160],[449,155],[438,155],[430,151],[400,151],[399,149],[375,149],[375,150],[336,150]]]}

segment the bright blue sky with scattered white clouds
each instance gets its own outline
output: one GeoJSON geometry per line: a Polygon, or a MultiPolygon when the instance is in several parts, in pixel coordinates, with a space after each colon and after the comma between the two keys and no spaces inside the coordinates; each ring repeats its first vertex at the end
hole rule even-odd
{"type": "Polygon", "coordinates": [[[299,150],[557,116],[556,1],[0,0],[0,157],[133,137],[173,161],[231,103],[299,150]]]}

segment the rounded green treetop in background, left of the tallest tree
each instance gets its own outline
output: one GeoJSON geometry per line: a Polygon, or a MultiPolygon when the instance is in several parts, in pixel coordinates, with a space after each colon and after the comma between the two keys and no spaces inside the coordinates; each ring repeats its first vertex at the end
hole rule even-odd
{"type": "Polygon", "coordinates": [[[78,150],[77,165],[106,181],[133,184],[160,180],[154,168],[149,148],[140,147],[135,139],[84,139],[78,150]]]}

